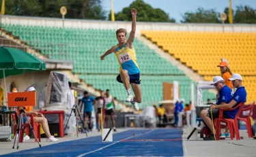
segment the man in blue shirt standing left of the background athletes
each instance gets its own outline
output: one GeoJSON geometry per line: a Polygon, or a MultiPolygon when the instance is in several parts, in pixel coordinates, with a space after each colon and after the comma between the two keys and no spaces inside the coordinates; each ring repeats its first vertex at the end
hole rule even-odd
{"type": "Polygon", "coordinates": [[[95,98],[93,96],[89,96],[88,91],[83,92],[84,97],[82,98],[83,105],[83,120],[84,120],[84,126],[85,130],[88,130],[87,128],[87,117],[89,118],[89,130],[92,128],[91,123],[91,112],[93,111],[93,105],[95,102],[95,98]]]}

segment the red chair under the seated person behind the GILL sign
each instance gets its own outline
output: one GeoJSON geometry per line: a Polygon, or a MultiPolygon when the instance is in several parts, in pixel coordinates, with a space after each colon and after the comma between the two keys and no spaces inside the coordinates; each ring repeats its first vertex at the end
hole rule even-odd
{"type": "MultiPolygon", "coordinates": [[[[40,125],[38,123],[33,122],[33,115],[27,115],[27,117],[30,117],[30,124],[33,127],[33,130],[35,132],[35,136],[38,137],[38,141],[41,142],[41,134],[40,134],[40,125]]],[[[16,117],[15,114],[12,113],[12,119],[14,121],[14,134],[16,134],[16,130],[18,127],[18,122],[16,121],[16,117]]],[[[23,128],[20,128],[20,134],[21,136],[19,136],[19,142],[22,143],[23,142],[23,134],[24,134],[24,130],[26,130],[26,134],[29,134],[29,124],[23,124],[23,128]]],[[[35,142],[37,142],[37,139],[35,138],[35,142]]]]}

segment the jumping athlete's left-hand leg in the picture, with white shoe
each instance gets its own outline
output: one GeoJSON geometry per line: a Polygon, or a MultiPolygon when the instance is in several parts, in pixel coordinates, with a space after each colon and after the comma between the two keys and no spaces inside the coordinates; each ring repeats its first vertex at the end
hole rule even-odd
{"type": "Polygon", "coordinates": [[[132,91],[130,90],[130,77],[128,75],[127,70],[122,70],[120,72],[120,76],[128,94],[128,97],[126,98],[126,102],[130,102],[132,100],[132,91]]]}

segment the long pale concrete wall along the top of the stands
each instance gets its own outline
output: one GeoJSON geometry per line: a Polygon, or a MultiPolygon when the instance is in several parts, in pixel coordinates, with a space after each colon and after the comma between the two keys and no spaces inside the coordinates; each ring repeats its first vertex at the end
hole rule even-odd
{"type": "MultiPolygon", "coordinates": [[[[131,22],[111,22],[107,20],[73,20],[61,18],[39,18],[29,16],[2,16],[2,23],[19,25],[52,26],[91,29],[131,29],[131,22]]],[[[170,31],[223,31],[222,24],[183,24],[183,23],[137,23],[137,33],[141,30],[170,30],[170,31]]],[[[225,31],[256,32],[256,25],[225,25],[225,31]]]]}

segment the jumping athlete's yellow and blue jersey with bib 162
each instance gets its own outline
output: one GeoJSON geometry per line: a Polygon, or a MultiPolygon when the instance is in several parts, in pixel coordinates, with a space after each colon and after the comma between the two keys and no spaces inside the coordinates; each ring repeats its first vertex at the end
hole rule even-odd
{"type": "Polygon", "coordinates": [[[117,57],[120,66],[119,71],[127,70],[128,74],[138,74],[140,72],[134,48],[128,48],[126,44],[119,47],[117,44],[115,46],[115,51],[115,56],[117,57]]]}

